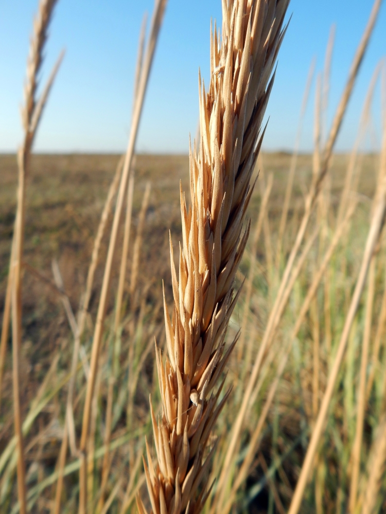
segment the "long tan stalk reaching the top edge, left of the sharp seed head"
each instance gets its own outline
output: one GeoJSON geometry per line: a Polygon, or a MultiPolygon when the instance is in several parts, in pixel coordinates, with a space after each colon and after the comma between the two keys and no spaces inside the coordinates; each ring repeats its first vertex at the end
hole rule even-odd
{"type": "Polygon", "coordinates": [[[80,439],[80,451],[81,451],[81,466],[79,471],[79,514],[85,514],[87,509],[87,499],[86,499],[86,459],[85,452],[87,447],[87,437],[89,434],[90,428],[90,413],[91,413],[91,402],[94,392],[95,386],[95,378],[98,367],[98,357],[99,357],[99,349],[100,342],[103,333],[103,321],[104,316],[106,314],[106,305],[107,305],[107,297],[109,292],[110,278],[111,278],[111,270],[113,263],[113,256],[115,252],[118,227],[122,212],[122,207],[124,203],[124,197],[126,194],[129,171],[131,169],[131,162],[134,154],[135,141],[137,137],[139,118],[141,117],[143,102],[145,98],[148,78],[150,74],[150,68],[154,57],[155,46],[157,42],[157,38],[161,29],[163,15],[165,12],[167,0],[157,0],[153,19],[150,27],[150,34],[148,45],[145,52],[144,63],[142,66],[141,78],[139,80],[138,93],[135,102],[133,119],[131,124],[130,137],[128,142],[128,148],[126,152],[124,167],[122,171],[117,205],[114,213],[113,226],[110,235],[110,243],[108,249],[108,255],[106,260],[106,266],[104,268],[103,275],[103,283],[102,290],[100,294],[100,300],[98,305],[98,313],[97,319],[95,323],[95,331],[94,338],[92,344],[92,353],[91,353],[91,363],[90,363],[90,376],[89,380],[87,380],[87,388],[86,388],[86,398],[83,408],[83,421],[82,421],[82,433],[80,439]]]}

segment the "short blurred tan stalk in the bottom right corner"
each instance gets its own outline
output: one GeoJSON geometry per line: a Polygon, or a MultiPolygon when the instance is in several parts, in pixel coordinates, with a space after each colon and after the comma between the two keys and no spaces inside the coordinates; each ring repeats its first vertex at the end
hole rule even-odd
{"type": "Polygon", "coordinates": [[[379,421],[369,458],[367,480],[361,514],[375,514],[386,463],[386,416],[379,421]]]}

